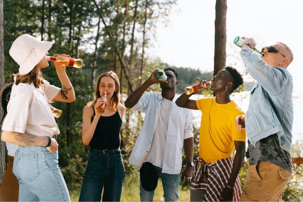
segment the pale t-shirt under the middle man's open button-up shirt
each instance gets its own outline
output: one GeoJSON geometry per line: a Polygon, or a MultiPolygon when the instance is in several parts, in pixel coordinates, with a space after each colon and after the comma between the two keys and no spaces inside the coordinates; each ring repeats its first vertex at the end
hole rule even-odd
{"type": "Polygon", "coordinates": [[[170,118],[172,101],[163,98],[160,106],[159,121],[155,130],[155,134],[151,143],[145,161],[153,164],[154,166],[163,167],[165,143],[168,130],[168,122],[170,118]]]}

